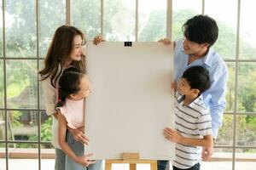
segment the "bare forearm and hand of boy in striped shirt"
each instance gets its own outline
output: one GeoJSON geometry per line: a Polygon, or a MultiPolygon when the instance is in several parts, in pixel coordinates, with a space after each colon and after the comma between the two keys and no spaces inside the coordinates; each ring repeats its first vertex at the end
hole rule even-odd
{"type": "Polygon", "coordinates": [[[166,139],[179,144],[205,146],[205,147],[212,147],[213,145],[212,135],[206,135],[203,137],[203,139],[191,139],[191,138],[183,137],[176,130],[173,130],[172,128],[169,128],[169,127],[166,127],[164,129],[164,135],[166,139]]]}

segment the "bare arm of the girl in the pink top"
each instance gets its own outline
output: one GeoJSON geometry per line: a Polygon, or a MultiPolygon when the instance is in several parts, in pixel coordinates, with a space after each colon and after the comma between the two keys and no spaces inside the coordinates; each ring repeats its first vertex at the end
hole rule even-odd
{"type": "Polygon", "coordinates": [[[92,163],[95,163],[95,161],[89,161],[89,157],[91,154],[84,155],[84,156],[77,156],[73,150],[69,147],[69,145],[66,142],[66,132],[67,132],[67,121],[65,116],[63,116],[61,113],[58,114],[58,120],[59,120],[59,129],[58,129],[58,137],[59,137],[59,144],[61,146],[61,149],[69,156],[73,161],[78,162],[79,164],[82,164],[84,166],[89,166],[92,163]]]}

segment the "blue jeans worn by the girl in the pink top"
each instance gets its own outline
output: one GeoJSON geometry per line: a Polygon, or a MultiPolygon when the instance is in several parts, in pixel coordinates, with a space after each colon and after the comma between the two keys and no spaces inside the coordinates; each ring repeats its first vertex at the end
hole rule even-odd
{"type": "MultiPolygon", "coordinates": [[[[81,142],[77,142],[73,139],[73,135],[67,131],[67,144],[73,150],[73,152],[77,156],[84,155],[84,144],[81,142]]],[[[73,159],[66,156],[66,170],[103,170],[103,163],[102,161],[97,161],[95,164],[90,165],[89,167],[84,167],[81,164],[73,161],[73,159]]]]}

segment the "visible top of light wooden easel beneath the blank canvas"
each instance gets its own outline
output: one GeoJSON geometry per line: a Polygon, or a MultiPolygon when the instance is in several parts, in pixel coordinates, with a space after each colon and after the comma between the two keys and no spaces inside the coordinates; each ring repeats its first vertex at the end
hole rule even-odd
{"type": "Polygon", "coordinates": [[[147,163],[150,164],[150,170],[157,170],[157,161],[140,160],[138,153],[124,153],[121,160],[106,160],[105,170],[112,170],[113,163],[128,163],[130,170],[136,170],[137,163],[147,163]]]}

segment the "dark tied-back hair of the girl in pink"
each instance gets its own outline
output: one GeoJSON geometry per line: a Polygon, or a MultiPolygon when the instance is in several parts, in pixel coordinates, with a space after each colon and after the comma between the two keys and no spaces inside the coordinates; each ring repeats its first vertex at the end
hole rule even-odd
{"type": "Polygon", "coordinates": [[[83,76],[84,74],[79,72],[79,70],[74,67],[70,67],[63,71],[63,74],[59,80],[59,97],[56,105],[57,107],[65,105],[67,97],[69,97],[71,94],[77,94],[79,92],[79,84],[83,76]]]}

